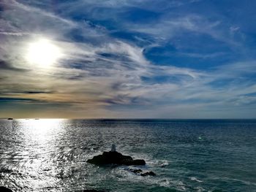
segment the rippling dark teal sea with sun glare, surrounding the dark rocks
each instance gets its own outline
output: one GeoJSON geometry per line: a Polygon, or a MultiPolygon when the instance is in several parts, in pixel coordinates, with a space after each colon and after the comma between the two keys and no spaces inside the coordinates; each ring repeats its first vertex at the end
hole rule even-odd
{"type": "Polygon", "coordinates": [[[13,191],[256,191],[256,120],[0,120],[0,185],[13,191]],[[137,166],[95,166],[116,150],[137,166]]]}

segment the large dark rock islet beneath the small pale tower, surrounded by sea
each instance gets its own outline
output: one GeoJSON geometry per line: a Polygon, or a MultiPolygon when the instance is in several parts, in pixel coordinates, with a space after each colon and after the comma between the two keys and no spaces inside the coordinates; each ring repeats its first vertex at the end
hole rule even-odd
{"type": "Polygon", "coordinates": [[[117,164],[117,165],[145,165],[146,162],[143,159],[133,160],[131,156],[122,155],[117,151],[103,152],[102,155],[94,156],[87,161],[89,164],[117,164]]]}

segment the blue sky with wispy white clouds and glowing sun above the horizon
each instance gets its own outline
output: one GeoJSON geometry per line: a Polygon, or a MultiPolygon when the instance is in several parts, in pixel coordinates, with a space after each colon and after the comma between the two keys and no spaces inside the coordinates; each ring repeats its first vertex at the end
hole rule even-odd
{"type": "Polygon", "coordinates": [[[1,0],[0,118],[256,118],[255,9],[1,0]]]}

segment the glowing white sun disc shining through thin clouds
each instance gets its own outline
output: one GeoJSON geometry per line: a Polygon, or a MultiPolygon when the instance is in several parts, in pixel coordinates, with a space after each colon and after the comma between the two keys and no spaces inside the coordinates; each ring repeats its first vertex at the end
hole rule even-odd
{"type": "Polygon", "coordinates": [[[29,43],[26,60],[30,64],[40,67],[48,67],[58,61],[61,57],[61,50],[48,39],[39,39],[37,42],[29,43]]]}

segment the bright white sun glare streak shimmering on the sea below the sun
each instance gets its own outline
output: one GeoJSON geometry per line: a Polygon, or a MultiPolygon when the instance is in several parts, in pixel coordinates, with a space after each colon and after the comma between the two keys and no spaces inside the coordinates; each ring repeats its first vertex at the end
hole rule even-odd
{"type": "MultiPolygon", "coordinates": [[[[64,134],[63,119],[30,119],[18,120],[20,131],[18,137],[20,147],[15,151],[14,159],[17,161],[19,170],[17,170],[26,181],[20,183],[20,186],[26,185],[40,188],[48,188],[56,185],[58,174],[56,172],[56,139],[64,134]]],[[[17,162],[16,162],[17,163],[17,162]]],[[[28,189],[29,190],[29,189],[28,189]]]]}

